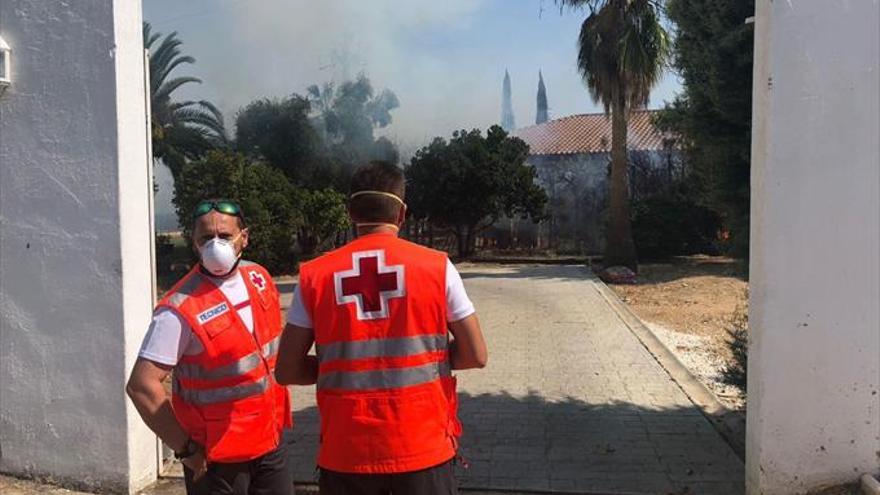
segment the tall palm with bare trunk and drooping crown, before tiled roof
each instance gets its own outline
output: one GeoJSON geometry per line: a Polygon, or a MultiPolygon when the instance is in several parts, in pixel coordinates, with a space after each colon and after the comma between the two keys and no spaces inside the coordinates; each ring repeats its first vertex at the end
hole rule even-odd
{"type": "Polygon", "coordinates": [[[593,101],[611,114],[611,179],[604,265],[638,268],[630,226],[626,140],[630,110],[644,107],[666,66],[662,0],[557,0],[589,9],[578,38],[578,69],[593,101]]]}

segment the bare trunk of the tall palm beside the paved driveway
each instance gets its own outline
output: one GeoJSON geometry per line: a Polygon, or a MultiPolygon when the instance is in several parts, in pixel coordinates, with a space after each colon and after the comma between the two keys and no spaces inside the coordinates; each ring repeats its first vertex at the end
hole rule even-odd
{"type": "Polygon", "coordinates": [[[609,218],[605,235],[605,267],[638,270],[629,206],[629,163],[626,156],[627,115],[618,100],[611,110],[611,177],[608,183],[609,218]]]}

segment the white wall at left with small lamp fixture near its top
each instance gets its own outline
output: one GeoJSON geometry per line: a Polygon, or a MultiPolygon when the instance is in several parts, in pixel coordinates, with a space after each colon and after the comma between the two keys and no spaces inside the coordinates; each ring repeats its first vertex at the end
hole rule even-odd
{"type": "Polygon", "coordinates": [[[152,308],[141,5],[0,1],[0,470],[128,492],[123,387],[152,308]]]}

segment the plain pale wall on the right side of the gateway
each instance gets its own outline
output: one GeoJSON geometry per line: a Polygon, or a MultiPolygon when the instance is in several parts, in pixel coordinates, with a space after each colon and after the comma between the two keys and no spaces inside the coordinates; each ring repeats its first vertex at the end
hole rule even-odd
{"type": "Polygon", "coordinates": [[[759,0],[750,494],[880,472],[880,3],[759,0]]]}

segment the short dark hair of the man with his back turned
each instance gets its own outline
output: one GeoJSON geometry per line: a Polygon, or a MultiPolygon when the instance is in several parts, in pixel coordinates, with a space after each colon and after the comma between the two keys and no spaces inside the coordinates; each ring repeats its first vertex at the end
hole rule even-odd
{"type": "MultiPolygon", "coordinates": [[[[406,194],[403,170],[383,161],[362,165],[351,177],[350,194],[360,191],[387,192],[403,201],[406,194]]],[[[364,194],[349,198],[348,205],[352,219],[360,222],[396,222],[400,208],[403,207],[394,198],[380,194],[364,194]]]]}

